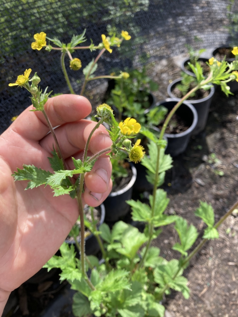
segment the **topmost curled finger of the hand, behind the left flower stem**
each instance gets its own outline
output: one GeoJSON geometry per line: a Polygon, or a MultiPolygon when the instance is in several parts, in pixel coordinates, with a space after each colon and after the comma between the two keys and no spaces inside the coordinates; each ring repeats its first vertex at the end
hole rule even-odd
{"type": "MultiPolygon", "coordinates": [[[[31,105],[26,108],[10,128],[26,139],[39,141],[49,133],[49,127],[41,111],[31,105]]],[[[47,100],[45,112],[53,127],[67,122],[79,121],[87,117],[92,110],[89,100],[79,95],[59,95],[47,100]]]]}

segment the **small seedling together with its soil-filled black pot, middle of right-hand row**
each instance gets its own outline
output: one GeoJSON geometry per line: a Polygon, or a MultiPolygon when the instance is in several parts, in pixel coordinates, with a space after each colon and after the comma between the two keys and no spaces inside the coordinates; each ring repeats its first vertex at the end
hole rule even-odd
{"type": "MultiPolygon", "coordinates": [[[[191,67],[194,67],[192,64],[190,65],[191,67]]],[[[200,71],[202,72],[202,68],[198,62],[197,65],[199,65],[200,71]]],[[[167,92],[171,98],[182,98],[196,85],[196,78],[188,74],[183,74],[182,78],[175,79],[169,84],[167,92]]],[[[198,114],[197,125],[193,131],[194,135],[200,133],[206,126],[209,108],[214,92],[215,88],[212,85],[206,85],[206,87],[193,92],[188,98],[189,103],[195,107],[198,114]]]]}

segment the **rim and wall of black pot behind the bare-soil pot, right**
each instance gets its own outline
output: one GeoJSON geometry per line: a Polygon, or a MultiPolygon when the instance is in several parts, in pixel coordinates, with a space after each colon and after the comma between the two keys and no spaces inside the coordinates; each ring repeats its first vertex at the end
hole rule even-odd
{"type": "MultiPolygon", "coordinates": [[[[169,94],[171,98],[176,98],[172,94],[172,90],[175,88],[177,84],[181,82],[181,80],[182,78],[178,78],[172,81],[171,84],[169,84],[167,88],[167,93],[169,94]]],[[[192,133],[193,135],[196,135],[205,129],[205,126],[208,120],[209,108],[210,108],[210,104],[211,104],[212,96],[214,95],[214,92],[215,92],[215,88],[211,85],[210,93],[207,97],[198,99],[198,100],[187,100],[190,104],[192,104],[195,107],[197,111],[197,115],[198,115],[197,126],[195,127],[192,133]]]]}

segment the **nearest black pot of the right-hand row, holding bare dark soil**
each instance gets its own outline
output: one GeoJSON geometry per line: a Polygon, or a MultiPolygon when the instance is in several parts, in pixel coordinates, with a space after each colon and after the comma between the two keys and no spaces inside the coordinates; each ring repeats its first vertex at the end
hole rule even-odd
{"type": "MultiPolygon", "coordinates": [[[[179,98],[167,98],[166,100],[161,101],[159,105],[166,107],[170,112],[179,100],[179,98]]],[[[193,130],[195,129],[195,126],[197,125],[198,119],[195,107],[193,107],[193,105],[187,101],[184,101],[175,113],[177,113],[184,121],[187,122],[189,128],[188,130],[181,133],[164,133],[164,136],[168,139],[168,146],[165,153],[170,154],[173,157],[186,150],[188,141],[193,130]]],[[[158,132],[160,131],[159,128],[156,127],[155,130],[158,132]]]]}

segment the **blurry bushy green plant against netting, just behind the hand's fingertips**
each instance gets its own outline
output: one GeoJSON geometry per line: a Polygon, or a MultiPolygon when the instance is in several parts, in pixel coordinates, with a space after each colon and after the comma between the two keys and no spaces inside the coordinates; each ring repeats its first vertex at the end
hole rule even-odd
{"type": "Polygon", "coordinates": [[[155,103],[151,91],[157,90],[158,85],[146,75],[145,66],[123,74],[128,75],[109,81],[105,102],[113,107],[119,121],[130,117],[142,124],[144,111],[155,103]]]}

